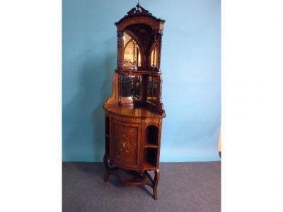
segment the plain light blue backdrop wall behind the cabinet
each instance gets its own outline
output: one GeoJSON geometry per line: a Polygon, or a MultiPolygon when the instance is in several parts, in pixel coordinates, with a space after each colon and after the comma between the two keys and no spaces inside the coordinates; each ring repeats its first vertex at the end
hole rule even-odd
{"type": "MultiPolygon", "coordinates": [[[[141,0],[166,19],[161,161],[219,160],[220,0],[141,0]]],[[[117,62],[115,21],[132,0],[63,0],[63,161],[102,161],[103,102],[117,62]]]]}

